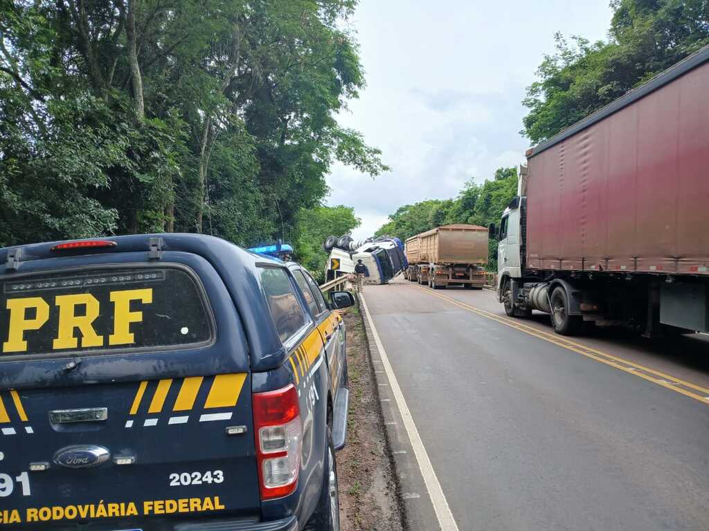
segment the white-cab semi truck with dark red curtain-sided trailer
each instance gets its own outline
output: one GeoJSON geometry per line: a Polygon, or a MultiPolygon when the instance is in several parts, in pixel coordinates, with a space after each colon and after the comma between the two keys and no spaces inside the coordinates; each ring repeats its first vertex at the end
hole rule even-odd
{"type": "Polygon", "coordinates": [[[527,150],[497,234],[506,314],[709,331],[708,164],[709,47],[527,150]]]}

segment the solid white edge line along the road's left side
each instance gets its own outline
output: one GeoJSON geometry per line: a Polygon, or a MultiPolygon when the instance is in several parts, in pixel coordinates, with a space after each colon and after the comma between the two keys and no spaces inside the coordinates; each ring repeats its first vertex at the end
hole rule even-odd
{"type": "Polygon", "coordinates": [[[377,333],[376,327],[374,326],[374,321],[372,320],[372,314],[369,313],[369,308],[367,307],[367,301],[364,300],[364,294],[360,293],[359,297],[362,299],[362,306],[364,306],[364,312],[367,314],[369,328],[372,329],[374,343],[376,343],[376,348],[379,350],[381,364],[384,365],[386,377],[389,379],[389,387],[391,387],[391,392],[396,399],[396,406],[398,406],[399,413],[401,413],[401,418],[403,418],[403,425],[406,428],[406,433],[408,434],[409,442],[411,442],[411,447],[413,447],[413,453],[416,456],[418,468],[420,469],[421,475],[423,476],[423,481],[426,484],[426,490],[428,490],[428,496],[433,505],[433,510],[435,510],[438,524],[440,525],[441,531],[458,531],[458,525],[455,523],[453,513],[450,511],[448,501],[445,498],[443,489],[441,489],[441,484],[438,482],[438,478],[432,467],[431,460],[428,458],[426,448],[424,447],[423,441],[418,434],[418,429],[416,429],[416,425],[413,422],[411,411],[409,411],[408,406],[406,405],[406,399],[403,397],[401,387],[399,387],[398,381],[396,380],[396,375],[394,375],[391,364],[389,363],[389,356],[386,355],[384,345],[381,344],[379,333],[377,333]]]}

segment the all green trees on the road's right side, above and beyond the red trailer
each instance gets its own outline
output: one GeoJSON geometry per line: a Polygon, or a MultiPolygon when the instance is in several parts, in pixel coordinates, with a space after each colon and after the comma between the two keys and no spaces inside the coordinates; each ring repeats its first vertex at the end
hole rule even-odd
{"type": "MultiPolygon", "coordinates": [[[[521,133],[531,144],[553,137],[709,44],[707,0],[611,0],[610,5],[607,41],[557,33],[557,50],[543,58],[523,101],[529,111],[521,133]]],[[[457,198],[399,207],[376,234],[405,240],[443,224],[498,224],[517,193],[517,182],[514,168],[500,168],[482,184],[466,183],[457,198]]],[[[490,270],[497,269],[497,245],[491,238],[490,270]]]]}

